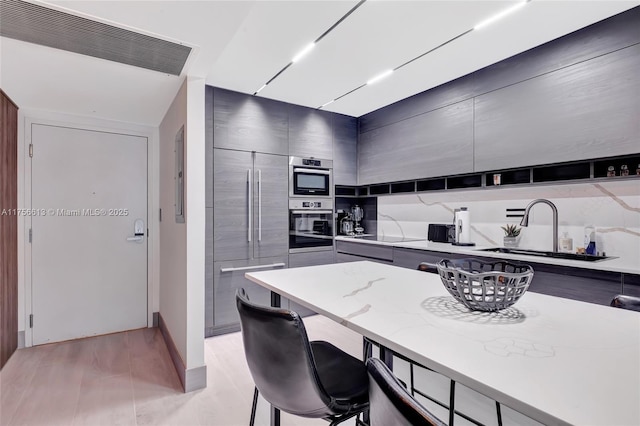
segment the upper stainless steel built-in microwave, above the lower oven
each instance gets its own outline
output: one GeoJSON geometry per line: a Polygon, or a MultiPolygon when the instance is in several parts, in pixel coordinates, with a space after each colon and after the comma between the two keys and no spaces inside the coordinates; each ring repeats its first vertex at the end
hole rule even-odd
{"type": "Polygon", "coordinates": [[[289,157],[289,197],[333,197],[333,161],[289,157]]]}

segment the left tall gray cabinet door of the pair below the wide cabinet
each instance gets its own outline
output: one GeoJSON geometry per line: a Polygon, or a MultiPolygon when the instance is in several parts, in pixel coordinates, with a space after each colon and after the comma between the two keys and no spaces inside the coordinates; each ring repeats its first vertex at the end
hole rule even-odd
{"type": "Polygon", "coordinates": [[[251,153],[214,149],[213,163],[214,260],[249,259],[253,255],[253,241],[249,241],[251,153]]]}

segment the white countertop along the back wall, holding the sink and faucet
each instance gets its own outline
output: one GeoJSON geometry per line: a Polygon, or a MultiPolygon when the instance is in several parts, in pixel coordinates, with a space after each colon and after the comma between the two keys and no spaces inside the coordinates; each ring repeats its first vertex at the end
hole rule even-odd
{"type": "Polygon", "coordinates": [[[337,236],[337,241],[350,241],[362,244],[378,244],[392,247],[409,248],[416,250],[425,250],[440,253],[462,254],[469,257],[488,257],[495,259],[519,260],[531,263],[544,263],[548,265],[566,266],[571,268],[594,269],[597,271],[621,272],[627,274],[640,274],[640,259],[623,259],[612,257],[610,259],[597,262],[586,262],[581,260],[556,259],[542,256],[527,256],[510,253],[497,253],[490,251],[481,251],[488,246],[454,246],[449,243],[435,243],[433,241],[407,239],[401,242],[385,242],[376,240],[367,240],[363,238],[354,238],[346,236],[337,236]]]}

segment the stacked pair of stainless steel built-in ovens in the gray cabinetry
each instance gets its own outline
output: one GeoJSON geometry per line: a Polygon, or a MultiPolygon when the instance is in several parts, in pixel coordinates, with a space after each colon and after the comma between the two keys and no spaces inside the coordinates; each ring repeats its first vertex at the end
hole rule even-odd
{"type": "Polygon", "coordinates": [[[289,253],[333,250],[333,162],[289,158],[289,253]]]}

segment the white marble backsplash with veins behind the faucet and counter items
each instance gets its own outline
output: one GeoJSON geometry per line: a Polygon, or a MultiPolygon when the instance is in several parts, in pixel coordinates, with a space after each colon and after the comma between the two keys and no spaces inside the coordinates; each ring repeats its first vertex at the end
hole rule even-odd
{"type": "MultiPolygon", "coordinates": [[[[524,209],[536,198],[557,206],[558,235],[567,232],[574,251],[584,246],[584,228],[592,225],[600,253],[640,263],[640,181],[636,179],[380,196],[378,235],[426,239],[429,223],[452,223],[454,209],[467,207],[471,241],[478,246],[502,246],[500,227],[520,222],[520,218],[507,218],[506,209],[524,209]]],[[[519,247],[551,250],[551,224],[549,206],[534,206],[519,247]]]]}

